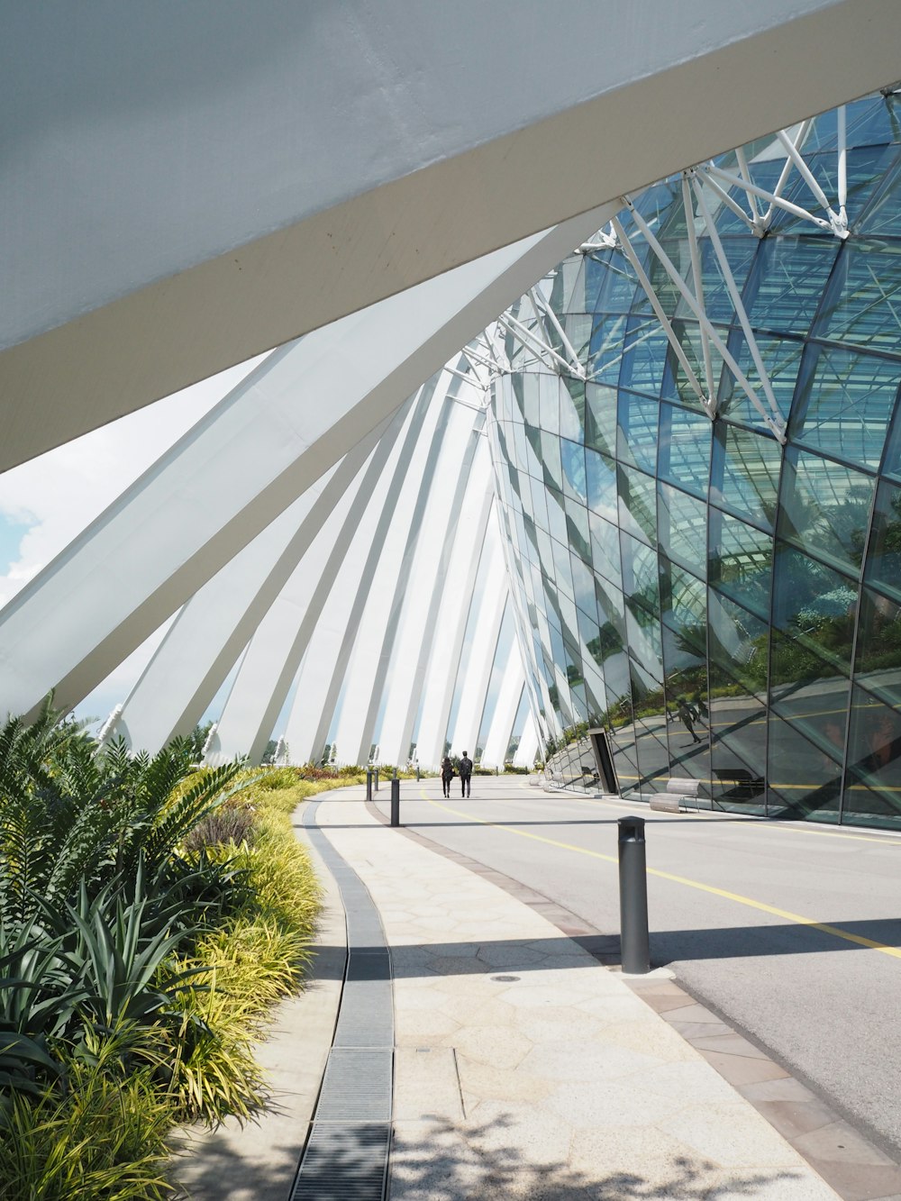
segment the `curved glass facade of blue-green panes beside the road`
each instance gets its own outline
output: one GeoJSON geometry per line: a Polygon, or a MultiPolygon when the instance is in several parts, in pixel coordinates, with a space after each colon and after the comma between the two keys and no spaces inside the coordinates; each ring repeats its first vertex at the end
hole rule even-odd
{"type": "MultiPolygon", "coordinates": [[[[562,787],[595,789],[597,728],[626,796],[694,778],[717,808],[901,825],[895,108],[847,106],[847,237],[796,166],[780,183],[781,143],[760,139],[718,166],[782,187],[807,217],[777,204],[760,235],[705,186],[711,232],[693,197],[686,215],[682,177],[666,180],[620,215],[632,258],[608,238],[544,282],[585,378],[507,340],[489,438],[529,692],[562,787]],[[660,251],[703,292],[706,329],[660,251]],[[686,363],[714,381],[712,418],[686,363]],[[771,398],[784,447],[751,393],[771,398]]],[[[840,131],[827,113],[796,135],[827,191],[840,131]]],[[[746,192],[721,191],[747,209],[746,192]]]]}

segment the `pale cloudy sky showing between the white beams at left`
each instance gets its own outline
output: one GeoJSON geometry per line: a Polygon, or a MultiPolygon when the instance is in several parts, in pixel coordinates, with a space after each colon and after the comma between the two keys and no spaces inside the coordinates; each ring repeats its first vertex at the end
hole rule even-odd
{"type": "MultiPolygon", "coordinates": [[[[0,605],[231,392],[262,355],[203,380],[0,474],[0,605]]],[[[106,718],[125,700],[168,622],[85,700],[78,717],[106,718]]]]}

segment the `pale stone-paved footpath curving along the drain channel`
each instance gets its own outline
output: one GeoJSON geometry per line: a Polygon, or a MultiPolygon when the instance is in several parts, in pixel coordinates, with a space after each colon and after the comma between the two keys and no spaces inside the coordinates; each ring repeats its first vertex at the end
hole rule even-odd
{"type": "MultiPolygon", "coordinates": [[[[674,1006],[712,1021],[666,972],[643,978],[645,1002],[533,907],[384,826],[362,789],[326,794],[316,823],[369,890],[390,948],[390,1201],[839,1196],[664,1021],[657,1010],[674,1006]]],[[[333,894],[329,944],[335,904],[333,894]]],[[[180,1175],[192,1196],[287,1197],[311,1095],[296,1095],[285,1069],[323,1062],[323,1022],[310,1033],[303,1006],[328,1011],[335,998],[328,981],[317,990],[276,1023],[273,1113],[193,1145],[180,1175]]]]}

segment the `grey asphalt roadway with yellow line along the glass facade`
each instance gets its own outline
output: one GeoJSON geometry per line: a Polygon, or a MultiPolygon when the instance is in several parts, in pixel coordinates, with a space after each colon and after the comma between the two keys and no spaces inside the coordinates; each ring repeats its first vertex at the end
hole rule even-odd
{"type": "MultiPolygon", "coordinates": [[[[619,930],[616,819],[648,821],[651,960],[901,1154],[901,837],[548,794],[401,783],[401,821],[619,930]]],[[[388,811],[388,791],[378,794],[388,811]]]]}

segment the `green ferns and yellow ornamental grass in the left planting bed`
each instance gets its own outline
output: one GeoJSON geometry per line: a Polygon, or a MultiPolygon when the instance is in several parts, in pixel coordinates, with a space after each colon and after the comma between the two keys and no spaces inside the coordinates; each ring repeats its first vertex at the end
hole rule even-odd
{"type": "Polygon", "coordinates": [[[265,1101],[253,1048],[321,903],[292,814],[351,782],[0,728],[0,1201],[155,1201],[175,1125],[265,1101]]]}

